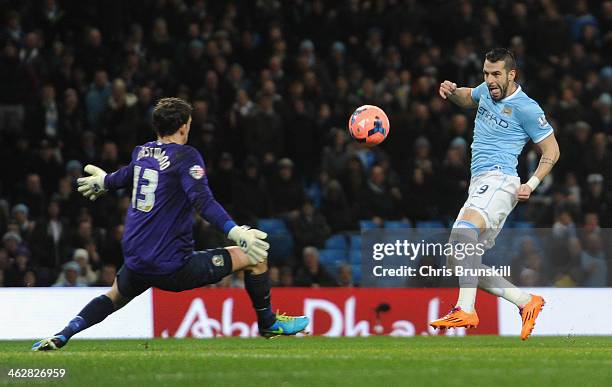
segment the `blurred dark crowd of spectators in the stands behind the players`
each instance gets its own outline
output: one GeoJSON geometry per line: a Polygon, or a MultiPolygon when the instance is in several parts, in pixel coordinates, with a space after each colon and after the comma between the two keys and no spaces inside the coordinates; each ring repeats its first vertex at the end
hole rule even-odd
{"type": "MultiPolygon", "coordinates": [[[[130,190],[91,204],[75,180],[129,163],[163,96],[193,104],[217,200],[269,231],[275,285],[358,285],[360,229],[452,225],[474,112],[438,85],[478,85],[495,46],[561,147],[506,224],[556,242],[523,240],[514,280],[611,284],[612,1],[5,0],[0,18],[0,286],[112,283],[130,190]],[[373,149],[347,135],[362,104],[391,121],[373,149]]],[[[524,180],[538,160],[528,145],[524,180]]],[[[195,240],[228,243],[202,219],[195,240]]]]}

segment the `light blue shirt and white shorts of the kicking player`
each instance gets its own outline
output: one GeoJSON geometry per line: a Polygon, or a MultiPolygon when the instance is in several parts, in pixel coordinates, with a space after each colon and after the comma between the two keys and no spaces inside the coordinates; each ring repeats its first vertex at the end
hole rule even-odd
{"type": "Polygon", "coordinates": [[[494,101],[486,83],[472,89],[478,104],[474,121],[472,165],[468,199],[461,209],[477,211],[486,222],[481,241],[490,248],[517,203],[521,185],[516,171],[518,156],[529,140],[538,143],[553,133],[540,105],[521,87],[494,101]]]}

